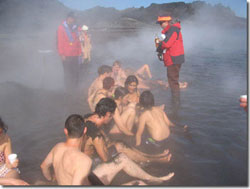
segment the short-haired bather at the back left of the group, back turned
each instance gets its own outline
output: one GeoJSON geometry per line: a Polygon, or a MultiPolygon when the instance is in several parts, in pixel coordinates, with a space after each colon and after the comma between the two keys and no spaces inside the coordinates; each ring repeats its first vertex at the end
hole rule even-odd
{"type": "MultiPolygon", "coordinates": [[[[112,72],[112,68],[107,65],[102,65],[98,68],[98,77],[92,82],[88,89],[88,98],[92,95],[95,95],[96,91],[102,89],[103,87],[103,80],[105,77],[110,77],[112,72]]],[[[89,101],[89,100],[88,100],[89,101]]]]}

